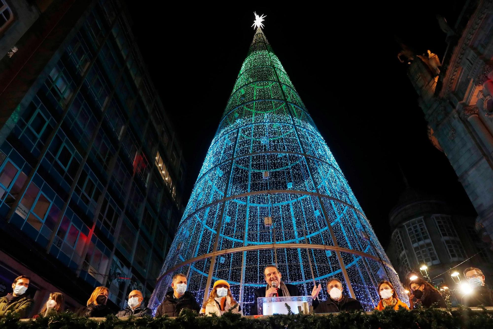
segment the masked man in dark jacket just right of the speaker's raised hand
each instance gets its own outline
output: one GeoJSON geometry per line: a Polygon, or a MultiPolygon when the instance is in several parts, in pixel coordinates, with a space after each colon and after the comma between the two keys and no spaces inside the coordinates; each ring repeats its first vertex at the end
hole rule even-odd
{"type": "Polygon", "coordinates": [[[342,282],[337,278],[330,278],[327,281],[327,300],[314,306],[315,313],[334,313],[341,311],[363,310],[361,303],[354,298],[346,297],[342,293],[342,282]]]}

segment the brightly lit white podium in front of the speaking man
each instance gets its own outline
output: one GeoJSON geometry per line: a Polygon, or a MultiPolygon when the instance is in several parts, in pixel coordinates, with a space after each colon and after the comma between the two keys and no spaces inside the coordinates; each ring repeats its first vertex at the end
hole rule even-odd
{"type": "Polygon", "coordinates": [[[257,298],[257,314],[258,315],[273,315],[287,314],[286,305],[289,305],[291,312],[298,314],[298,306],[303,309],[303,303],[307,302],[308,307],[312,306],[312,296],[293,296],[293,297],[258,297],[257,298]]]}

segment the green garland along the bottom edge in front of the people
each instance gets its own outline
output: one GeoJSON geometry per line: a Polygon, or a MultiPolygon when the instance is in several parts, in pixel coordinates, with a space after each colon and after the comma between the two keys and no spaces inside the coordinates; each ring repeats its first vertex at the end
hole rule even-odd
{"type": "Polygon", "coordinates": [[[327,328],[364,328],[364,329],[491,329],[493,313],[486,309],[472,311],[468,308],[443,311],[438,309],[417,308],[414,310],[385,309],[371,314],[364,312],[342,312],[326,316],[318,315],[273,315],[263,319],[241,317],[239,314],[225,313],[222,317],[199,317],[197,313],[183,310],[176,319],[162,317],[152,319],[133,318],[118,320],[108,316],[106,321],[77,317],[73,313],[52,313],[49,317],[35,321],[18,321],[15,315],[0,319],[1,329],[327,329],[327,328]]]}

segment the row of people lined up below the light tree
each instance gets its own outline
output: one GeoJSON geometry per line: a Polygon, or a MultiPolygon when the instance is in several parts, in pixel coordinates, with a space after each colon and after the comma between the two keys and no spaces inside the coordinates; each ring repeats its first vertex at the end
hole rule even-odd
{"type": "MultiPolygon", "coordinates": [[[[279,269],[274,265],[268,265],[264,269],[265,282],[267,286],[255,290],[255,297],[250,314],[257,314],[258,297],[289,297],[299,296],[299,290],[294,285],[282,282],[282,275],[279,269]]],[[[475,267],[469,267],[464,270],[464,277],[473,288],[473,292],[462,297],[462,304],[467,307],[474,306],[493,306],[493,290],[485,284],[483,272],[475,267]]],[[[19,276],[12,283],[12,293],[0,298],[0,318],[9,313],[17,313],[21,318],[30,316],[34,301],[27,294],[30,278],[19,276]]],[[[190,309],[199,314],[211,316],[213,314],[221,316],[225,312],[242,314],[240,304],[235,300],[231,293],[231,287],[225,280],[217,280],[212,286],[211,292],[202,307],[197,303],[195,296],[187,291],[187,279],[183,274],[176,274],[172,279],[172,291],[168,292],[159,307],[156,310],[155,317],[170,316],[176,317],[182,309],[190,309]]],[[[318,300],[318,294],[321,285],[315,286],[312,290],[313,308],[315,313],[334,313],[341,311],[363,310],[361,303],[354,298],[344,294],[343,283],[337,278],[327,280],[327,299],[318,300]]],[[[388,281],[382,281],[378,284],[377,291],[380,300],[375,306],[375,310],[382,311],[386,307],[395,310],[399,308],[414,308],[415,305],[423,307],[446,307],[446,302],[440,292],[430,283],[417,278],[409,284],[409,304],[399,299],[394,286],[388,281]]],[[[109,290],[106,287],[97,287],[87,300],[85,307],[76,311],[76,315],[85,317],[106,317],[114,312],[106,306],[109,290]]],[[[143,305],[142,292],[132,290],[128,296],[127,307],[119,311],[117,317],[126,316],[152,316],[152,310],[143,305]]],[[[48,316],[51,312],[64,311],[64,296],[60,292],[50,293],[48,301],[34,318],[48,316]]]]}

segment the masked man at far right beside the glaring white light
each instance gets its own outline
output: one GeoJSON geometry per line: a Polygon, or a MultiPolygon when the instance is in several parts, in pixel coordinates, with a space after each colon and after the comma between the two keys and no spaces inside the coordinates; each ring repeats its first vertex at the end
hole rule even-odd
{"type": "Polygon", "coordinates": [[[468,267],[464,270],[464,277],[473,290],[462,296],[462,305],[467,307],[493,306],[493,290],[485,285],[483,271],[476,267],[468,267]]]}

